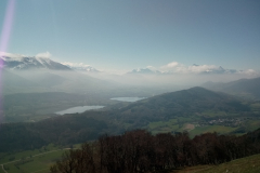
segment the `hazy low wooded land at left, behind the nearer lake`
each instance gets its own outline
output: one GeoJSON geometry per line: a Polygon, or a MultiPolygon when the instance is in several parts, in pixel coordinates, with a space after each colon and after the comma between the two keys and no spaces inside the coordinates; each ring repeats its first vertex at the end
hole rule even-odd
{"type": "MultiPolygon", "coordinates": [[[[108,97],[108,96],[107,96],[108,97]]],[[[64,92],[17,93],[2,96],[3,122],[35,122],[75,106],[113,104],[106,96],[64,92]]]]}

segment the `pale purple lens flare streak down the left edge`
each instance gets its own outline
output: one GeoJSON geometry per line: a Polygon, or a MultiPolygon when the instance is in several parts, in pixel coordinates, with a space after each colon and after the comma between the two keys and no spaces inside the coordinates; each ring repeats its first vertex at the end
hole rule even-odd
{"type": "MultiPolygon", "coordinates": [[[[9,0],[4,21],[2,25],[1,38],[0,38],[0,57],[8,51],[9,39],[12,30],[13,16],[14,16],[15,0],[9,0]]],[[[0,58],[0,123],[3,121],[3,109],[2,109],[2,67],[3,61],[0,58]]]]}

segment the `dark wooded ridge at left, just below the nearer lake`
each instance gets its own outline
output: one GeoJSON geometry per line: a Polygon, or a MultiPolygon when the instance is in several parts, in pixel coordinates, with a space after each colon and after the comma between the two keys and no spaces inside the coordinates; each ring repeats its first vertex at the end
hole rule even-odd
{"type": "Polygon", "coordinates": [[[5,123],[0,127],[0,152],[40,148],[50,143],[83,143],[100,134],[117,132],[103,120],[80,115],[62,116],[36,123],[5,123]]]}

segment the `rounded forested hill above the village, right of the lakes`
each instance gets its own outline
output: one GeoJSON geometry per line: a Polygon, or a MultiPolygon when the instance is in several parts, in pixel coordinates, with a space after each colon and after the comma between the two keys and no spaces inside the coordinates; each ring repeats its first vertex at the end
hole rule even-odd
{"type": "Polygon", "coordinates": [[[245,114],[250,108],[234,96],[196,86],[142,99],[120,109],[123,119],[135,117],[148,121],[194,116],[207,118],[207,114],[204,114],[206,111],[245,114]]]}

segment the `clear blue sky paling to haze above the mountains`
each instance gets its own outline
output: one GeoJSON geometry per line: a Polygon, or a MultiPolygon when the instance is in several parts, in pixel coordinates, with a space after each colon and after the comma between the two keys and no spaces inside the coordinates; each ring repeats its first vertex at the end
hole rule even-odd
{"type": "Polygon", "coordinates": [[[178,62],[260,70],[259,0],[0,0],[0,29],[12,19],[8,4],[0,51],[50,52],[98,69],[178,62]]]}

